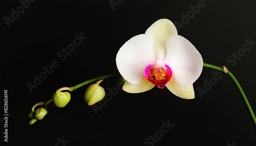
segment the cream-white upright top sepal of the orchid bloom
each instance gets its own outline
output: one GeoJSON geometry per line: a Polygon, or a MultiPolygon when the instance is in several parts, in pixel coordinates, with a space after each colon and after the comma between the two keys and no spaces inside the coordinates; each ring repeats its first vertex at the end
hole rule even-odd
{"type": "Polygon", "coordinates": [[[153,54],[157,60],[164,59],[166,55],[166,42],[170,35],[177,35],[174,23],[168,19],[159,19],[145,32],[154,39],[153,54]]]}

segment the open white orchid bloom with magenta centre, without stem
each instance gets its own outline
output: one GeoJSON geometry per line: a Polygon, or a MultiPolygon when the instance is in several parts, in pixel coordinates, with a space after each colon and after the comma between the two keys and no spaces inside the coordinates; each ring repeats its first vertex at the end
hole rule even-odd
{"type": "Polygon", "coordinates": [[[168,19],[159,19],[145,32],[126,41],[116,55],[116,64],[125,79],[122,89],[141,93],[157,86],[182,99],[194,99],[193,83],[203,69],[196,47],[178,35],[168,19]]]}

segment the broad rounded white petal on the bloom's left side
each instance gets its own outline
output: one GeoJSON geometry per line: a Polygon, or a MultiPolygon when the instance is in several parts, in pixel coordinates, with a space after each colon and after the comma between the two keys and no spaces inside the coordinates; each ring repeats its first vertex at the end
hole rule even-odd
{"type": "Polygon", "coordinates": [[[122,77],[131,84],[139,84],[144,78],[144,69],[154,63],[153,39],[140,34],[126,41],[116,55],[116,65],[122,77]]]}

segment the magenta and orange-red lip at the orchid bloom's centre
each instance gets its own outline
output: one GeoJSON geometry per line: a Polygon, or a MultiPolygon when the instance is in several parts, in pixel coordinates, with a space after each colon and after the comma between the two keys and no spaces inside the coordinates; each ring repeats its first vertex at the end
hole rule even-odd
{"type": "Polygon", "coordinates": [[[144,78],[160,89],[163,89],[172,77],[172,69],[163,61],[156,61],[154,64],[147,65],[144,70],[144,78]]]}

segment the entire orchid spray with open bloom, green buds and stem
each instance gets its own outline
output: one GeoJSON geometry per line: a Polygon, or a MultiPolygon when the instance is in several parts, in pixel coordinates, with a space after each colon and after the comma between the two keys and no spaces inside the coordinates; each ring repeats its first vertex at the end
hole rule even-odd
{"type": "MultiPolygon", "coordinates": [[[[232,79],[256,126],[253,110],[233,74],[225,66],[219,67],[204,63],[196,47],[186,38],[178,35],[174,23],[168,19],[157,20],[146,30],[145,34],[139,34],[126,41],[116,55],[116,65],[119,72],[115,74],[89,79],[72,87],[62,87],[54,93],[53,98],[46,102],[36,103],[28,114],[29,124],[32,125],[44,118],[48,113],[49,103],[53,101],[57,107],[63,108],[70,101],[69,92],[92,82],[97,81],[87,88],[84,100],[90,106],[100,102],[105,96],[105,90],[99,86],[99,83],[110,77],[120,77],[120,75],[123,77],[122,83],[124,81],[122,89],[129,93],[145,92],[155,86],[163,89],[166,86],[170,92],[182,99],[194,99],[193,83],[201,75],[203,67],[207,67],[222,71],[232,79]],[[34,110],[37,106],[42,107],[34,110]]],[[[101,107],[96,105],[93,109],[97,111],[101,107]]],[[[96,111],[94,112],[97,114],[96,111]]]]}

